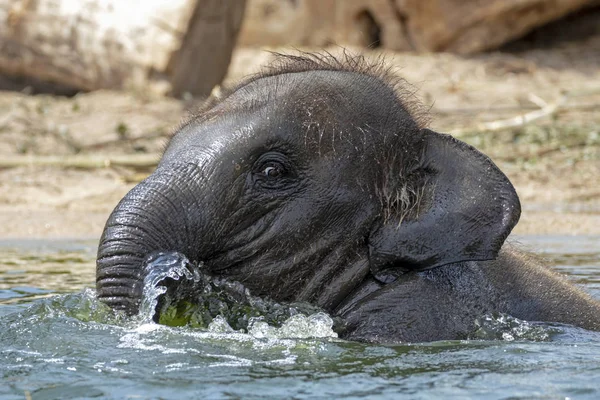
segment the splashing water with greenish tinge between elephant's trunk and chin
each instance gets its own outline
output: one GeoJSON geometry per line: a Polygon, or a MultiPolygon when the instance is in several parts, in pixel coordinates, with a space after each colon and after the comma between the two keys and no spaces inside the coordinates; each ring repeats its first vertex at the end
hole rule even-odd
{"type": "Polygon", "coordinates": [[[213,334],[255,338],[336,338],[334,319],[305,303],[279,304],[252,296],[237,282],[211,277],[176,252],[148,258],[138,326],[158,322],[213,334]],[[185,278],[185,279],[182,279],[185,278]],[[165,285],[166,279],[178,281],[165,285]]]}

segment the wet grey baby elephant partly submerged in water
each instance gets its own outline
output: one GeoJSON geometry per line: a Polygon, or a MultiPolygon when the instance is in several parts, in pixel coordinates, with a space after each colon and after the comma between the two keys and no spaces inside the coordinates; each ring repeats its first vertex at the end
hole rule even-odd
{"type": "Polygon", "coordinates": [[[520,214],[506,176],[423,128],[382,71],[280,58],[209,102],[107,221],[99,298],[135,313],[143,262],[162,250],[319,306],[351,340],[462,338],[488,312],[600,329],[596,302],[503,247],[520,214]]]}

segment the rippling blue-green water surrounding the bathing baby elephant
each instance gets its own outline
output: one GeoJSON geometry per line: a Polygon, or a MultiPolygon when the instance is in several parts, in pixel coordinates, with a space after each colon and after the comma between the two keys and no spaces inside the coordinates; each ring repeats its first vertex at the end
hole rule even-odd
{"type": "MultiPolygon", "coordinates": [[[[600,298],[600,237],[520,240],[600,298]]],[[[1,399],[600,398],[599,333],[502,315],[479,321],[479,340],[400,346],[339,340],[319,313],[247,333],[167,327],[85,289],[95,246],[0,242],[1,399]]]]}

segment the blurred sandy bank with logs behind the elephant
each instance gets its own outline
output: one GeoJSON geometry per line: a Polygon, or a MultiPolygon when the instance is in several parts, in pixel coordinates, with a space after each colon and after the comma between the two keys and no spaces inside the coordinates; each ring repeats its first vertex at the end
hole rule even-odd
{"type": "Polygon", "coordinates": [[[600,234],[600,1],[0,0],[0,238],[96,238],[187,113],[270,51],[383,56],[517,187],[600,234]]]}

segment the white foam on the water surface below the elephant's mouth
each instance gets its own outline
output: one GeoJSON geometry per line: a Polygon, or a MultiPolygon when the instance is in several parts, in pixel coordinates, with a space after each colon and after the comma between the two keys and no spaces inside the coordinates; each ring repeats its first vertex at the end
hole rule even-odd
{"type": "MultiPolygon", "coordinates": [[[[269,326],[260,318],[252,321],[248,332],[236,331],[223,318],[217,316],[208,329],[169,327],[154,322],[143,323],[127,329],[120,337],[117,348],[157,352],[164,355],[198,355],[207,358],[209,367],[246,367],[251,365],[294,364],[298,351],[306,354],[322,351],[326,344],[337,338],[332,330],[333,321],[325,314],[296,315],[281,327],[269,326]],[[211,344],[221,351],[206,351],[211,344]],[[222,351],[226,348],[227,351],[222,351]],[[253,350],[266,352],[264,359],[242,356],[253,350]]],[[[256,353],[254,353],[256,354],[256,353]]],[[[175,363],[169,371],[202,368],[190,363],[175,363]]]]}

